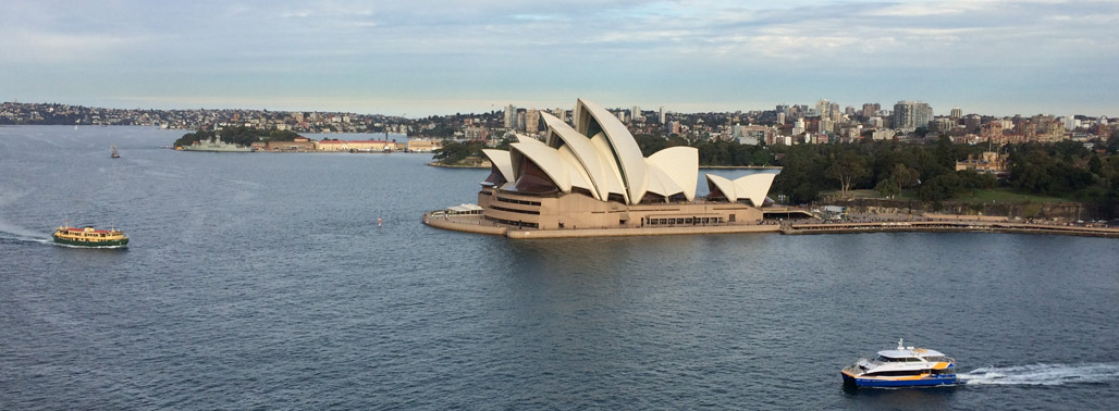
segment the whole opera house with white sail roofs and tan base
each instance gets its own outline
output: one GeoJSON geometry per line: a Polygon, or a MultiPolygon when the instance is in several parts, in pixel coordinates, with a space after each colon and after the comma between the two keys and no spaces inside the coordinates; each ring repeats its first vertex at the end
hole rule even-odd
{"type": "Polygon", "coordinates": [[[544,142],[519,136],[509,151],[483,150],[492,164],[477,204],[424,214],[424,223],[510,238],[779,231],[765,223],[772,172],[730,180],[706,175],[696,198],[699,154],[675,146],[646,157],[618,117],[579,99],[573,124],[540,113],[544,142]]]}

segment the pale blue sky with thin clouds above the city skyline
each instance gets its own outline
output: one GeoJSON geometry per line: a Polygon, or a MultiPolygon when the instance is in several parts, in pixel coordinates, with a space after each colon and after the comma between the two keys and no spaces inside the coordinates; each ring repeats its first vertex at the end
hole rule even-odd
{"type": "Polygon", "coordinates": [[[1119,115],[1116,0],[4,0],[0,39],[3,102],[1119,115]]]}

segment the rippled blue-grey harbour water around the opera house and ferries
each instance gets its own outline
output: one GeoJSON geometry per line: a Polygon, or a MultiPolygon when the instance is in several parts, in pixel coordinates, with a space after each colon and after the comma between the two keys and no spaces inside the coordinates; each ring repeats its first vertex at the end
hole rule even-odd
{"type": "Polygon", "coordinates": [[[181,134],[0,127],[0,409],[1119,409],[1116,239],[516,241],[420,222],[486,170],[181,134]],[[968,383],[843,388],[900,337],[968,383]]]}

